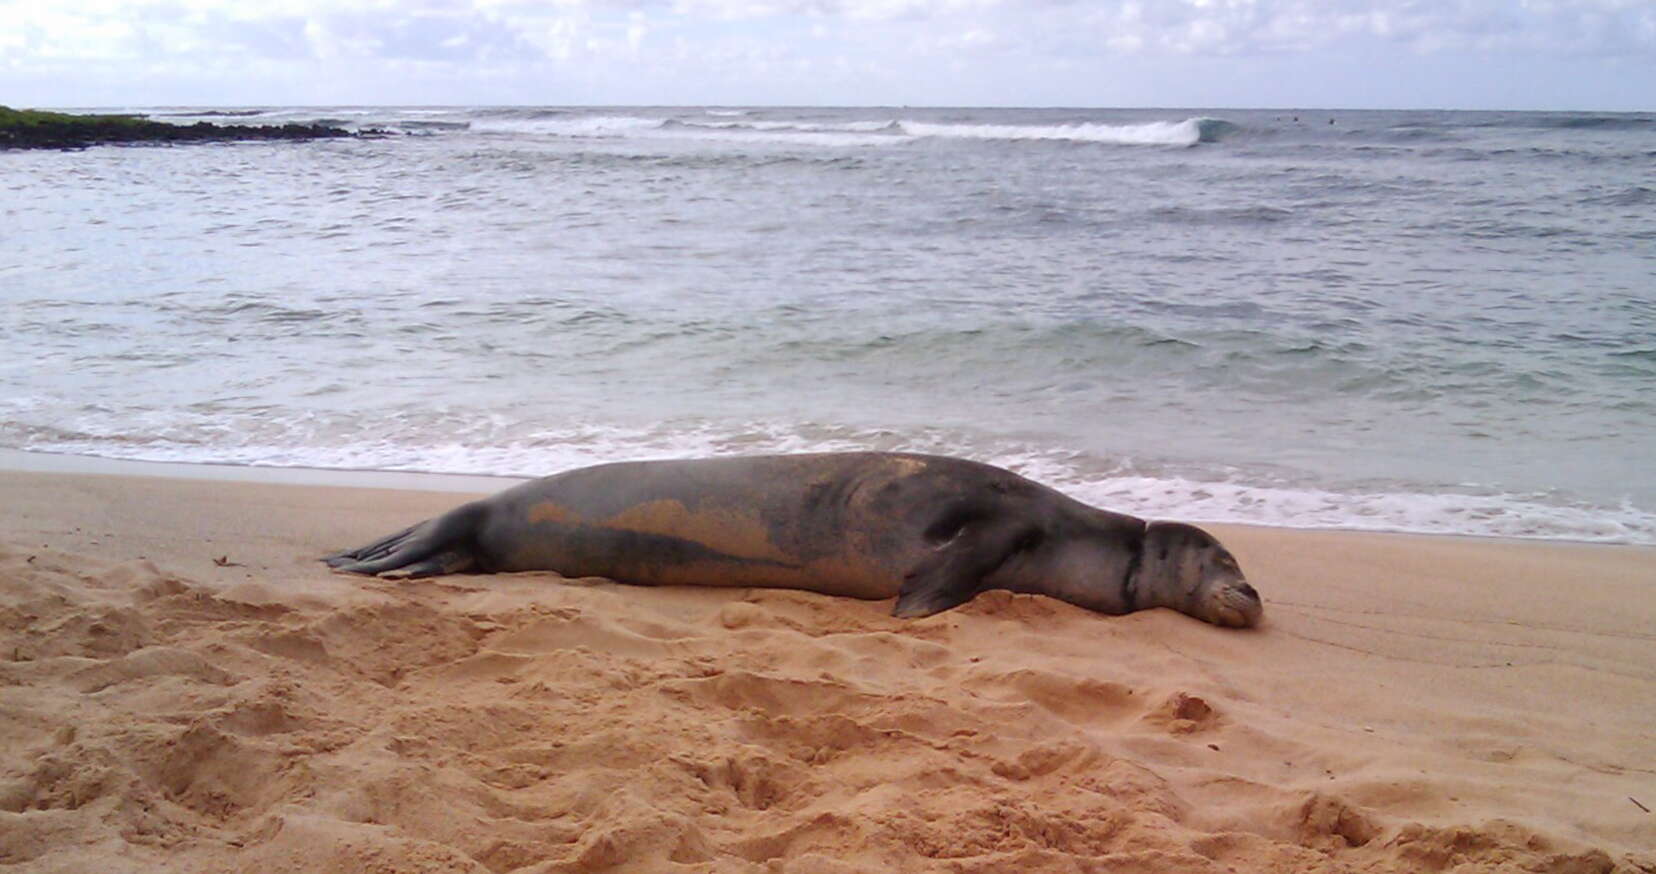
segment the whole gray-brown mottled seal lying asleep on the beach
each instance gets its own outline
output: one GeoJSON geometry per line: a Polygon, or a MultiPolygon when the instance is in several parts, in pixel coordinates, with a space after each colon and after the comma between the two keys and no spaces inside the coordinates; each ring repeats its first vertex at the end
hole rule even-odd
{"type": "Polygon", "coordinates": [[[1264,612],[1207,531],[1098,510],[1010,470],[896,452],[623,462],[507,488],[325,558],[359,574],[556,571],[646,586],[898,598],[894,616],[984,589],[1098,612],[1264,612]]]}

